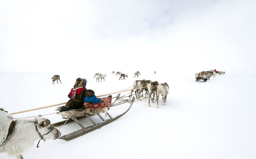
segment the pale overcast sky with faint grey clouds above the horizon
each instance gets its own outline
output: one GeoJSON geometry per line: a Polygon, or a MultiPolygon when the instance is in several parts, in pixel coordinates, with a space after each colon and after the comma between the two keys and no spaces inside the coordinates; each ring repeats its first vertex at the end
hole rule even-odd
{"type": "Polygon", "coordinates": [[[256,69],[256,1],[0,2],[0,71],[256,69]]]}

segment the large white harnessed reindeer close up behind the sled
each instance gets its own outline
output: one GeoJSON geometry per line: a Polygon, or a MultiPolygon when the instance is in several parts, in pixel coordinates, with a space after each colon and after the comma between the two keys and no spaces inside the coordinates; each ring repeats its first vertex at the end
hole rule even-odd
{"type": "Polygon", "coordinates": [[[0,121],[0,152],[7,152],[17,159],[23,159],[21,154],[33,146],[35,140],[58,139],[61,135],[42,115],[35,119],[17,118],[14,121],[10,114],[0,108],[0,121]]]}

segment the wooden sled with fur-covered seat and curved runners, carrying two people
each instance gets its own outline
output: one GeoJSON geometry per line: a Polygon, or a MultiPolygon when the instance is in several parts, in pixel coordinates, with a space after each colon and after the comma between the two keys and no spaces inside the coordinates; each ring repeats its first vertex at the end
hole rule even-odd
{"type": "Polygon", "coordinates": [[[74,138],[80,137],[84,134],[87,134],[89,132],[92,132],[93,130],[99,129],[115,120],[117,120],[118,118],[120,118],[121,116],[123,116],[127,111],[130,110],[132,104],[134,103],[135,97],[132,98],[132,100],[128,100],[128,99],[123,99],[120,98],[120,93],[115,97],[115,101],[111,104],[111,106],[109,107],[100,107],[100,108],[91,108],[91,106],[85,106],[86,108],[89,109],[85,109],[85,110],[79,110],[79,109],[72,109],[69,111],[65,111],[65,112],[60,112],[60,115],[62,115],[63,118],[67,119],[66,121],[62,121],[62,122],[57,122],[54,123],[53,126],[57,127],[57,126],[63,126],[64,124],[67,124],[69,122],[75,121],[80,127],[81,129],[76,130],[74,132],[71,132],[69,134],[63,135],[62,137],[60,137],[59,139],[63,139],[66,141],[70,141],[74,138]],[[119,101],[119,103],[116,103],[116,101],[119,101]],[[112,117],[109,114],[109,109],[111,110],[111,107],[120,105],[120,104],[124,104],[124,103],[130,103],[129,108],[122,114],[117,115],[116,117],[112,117]],[[105,120],[100,113],[106,113],[106,115],[109,117],[109,119],[105,120]],[[102,122],[100,123],[96,123],[90,116],[91,115],[98,115],[98,117],[102,120],[102,122]],[[81,118],[88,118],[91,123],[93,125],[88,126],[88,127],[84,127],[83,124],[81,124],[78,120],[81,118]]]}

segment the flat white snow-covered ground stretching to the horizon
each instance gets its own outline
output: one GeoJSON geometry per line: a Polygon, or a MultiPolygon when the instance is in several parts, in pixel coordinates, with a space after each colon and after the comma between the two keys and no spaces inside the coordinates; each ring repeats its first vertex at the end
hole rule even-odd
{"type": "MultiPolygon", "coordinates": [[[[132,86],[133,72],[126,80],[106,72],[105,82],[97,82],[91,73],[59,73],[62,84],[52,84],[56,73],[0,72],[0,107],[9,113],[68,101],[68,93],[78,77],[87,78],[87,89],[96,95],[117,92],[132,86]]],[[[201,71],[201,70],[198,70],[201,71]]],[[[71,141],[47,140],[23,153],[28,158],[255,158],[256,147],[256,70],[223,70],[225,75],[210,81],[195,82],[194,73],[164,74],[141,72],[137,79],[167,82],[167,105],[147,106],[147,99],[135,102],[117,121],[71,141]]],[[[127,92],[128,93],[128,92],[127,92]]],[[[128,104],[114,107],[117,115],[128,104]]],[[[13,115],[37,116],[53,113],[55,107],[13,115]]],[[[52,123],[59,115],[47,116],[52,123]]],[[[89,124],[88,120],[83,123],[89,124]]],[[[63,134],[74,131],[75,123],[65,125],[63,134]]],[[[1,153],[0,158],[9,157],[1,153]]]]}

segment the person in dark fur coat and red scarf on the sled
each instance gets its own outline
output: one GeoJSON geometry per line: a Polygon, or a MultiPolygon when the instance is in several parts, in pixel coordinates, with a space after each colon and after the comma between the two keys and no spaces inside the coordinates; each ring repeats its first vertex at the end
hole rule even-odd
{"type": "Polygon", "coordinates": [[[65,106],[59,108],[59,111],[68,111],[71,109],[80,109],[84,107],[84,98],[87,89],[85,88],[87,80],[85,78],[77,78],[73,88],[71,88],[68,98],[70,100],[65,106]]]}

